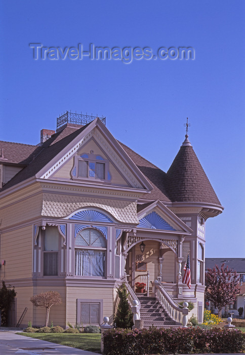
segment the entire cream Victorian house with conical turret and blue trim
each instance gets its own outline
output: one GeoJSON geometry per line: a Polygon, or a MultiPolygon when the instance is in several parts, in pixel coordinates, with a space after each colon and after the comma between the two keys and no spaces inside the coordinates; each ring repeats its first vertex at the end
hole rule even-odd
{"type": "Polygon", "coordinates": [[[105,119],[82,119],[64,114],[37,146],[0,143],[0,278],[15,286],[14,318],[27,308],[22,326],[44,324],[29,299],[56,290],[53,324],[112,322],[116,288],[127,275],[134,290],[149,271],[176,302],[191,299],[201,321],[205,225],[223,207],[188,135],[165,173],[117,141],[105,119]],[[190,289],[181,276],[188,254],[190,289]]]}

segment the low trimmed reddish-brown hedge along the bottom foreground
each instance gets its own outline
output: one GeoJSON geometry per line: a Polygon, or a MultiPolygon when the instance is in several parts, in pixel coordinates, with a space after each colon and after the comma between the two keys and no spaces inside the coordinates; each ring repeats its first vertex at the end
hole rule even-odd
{"type": "Polygon", "coordinates": [[[111,329],[104,333],[104,354],[231,353],[245,349],[245,334],[221,328],[111,329]]]}

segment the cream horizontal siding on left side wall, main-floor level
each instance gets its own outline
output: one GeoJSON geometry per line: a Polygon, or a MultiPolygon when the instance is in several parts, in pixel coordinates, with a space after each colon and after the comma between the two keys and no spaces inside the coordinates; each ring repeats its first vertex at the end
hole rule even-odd
{"type": "Polygon", "coordinates": [[[31,277],[32,272],[32,226],[16,229],[1,235],[1,256],[6,260],[1,277],[16,279],[31,277]]]}

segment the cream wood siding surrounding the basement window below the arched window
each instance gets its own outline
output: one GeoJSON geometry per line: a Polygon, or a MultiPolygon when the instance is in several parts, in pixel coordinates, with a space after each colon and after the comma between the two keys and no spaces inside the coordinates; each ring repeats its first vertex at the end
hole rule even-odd
{"type": "MultiPolygon", "coordinates": [[[[67,288],[67,321],[71,324],[77,322],[77,299],[102,299],[103,300],[103,317],[110,318],[113,322],[113,288],[96,288],[96,287],[68,287],[67,288]]],[[[103,319],[101,319],[103,322],[103,319]]]]}

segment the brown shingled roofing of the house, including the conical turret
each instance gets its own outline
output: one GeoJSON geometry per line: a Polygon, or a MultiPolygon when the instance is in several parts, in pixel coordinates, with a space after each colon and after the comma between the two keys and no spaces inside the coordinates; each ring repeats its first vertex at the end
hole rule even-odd
{"type": "MultiPolygon", "coordinates": [[[[88,125],[83,127],[67,125],[64,129],[53,134],[40,147],[2,142],[5,153],[4,162],[26,166],[5,184],[1,191],[34,176],[88,125]]],[[[220,201],[188,139],[180,148],[167,174],[126,145],[119,141],[118,143],[153,187],[151,193],[146,194],[144,199],[162,202],[207,202],[220,205],[220,201]]]]}

